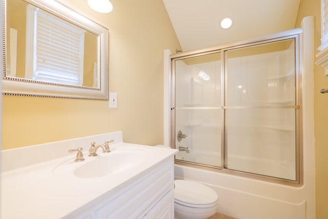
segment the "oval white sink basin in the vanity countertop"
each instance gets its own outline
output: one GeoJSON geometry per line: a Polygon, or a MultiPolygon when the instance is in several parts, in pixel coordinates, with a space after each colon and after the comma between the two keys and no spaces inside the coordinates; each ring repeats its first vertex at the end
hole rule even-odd
{"type": "Polygon", "coordinates": [[[122,172],[140,164],[144,160],[142,155],[141,153],[125,152],[99,156],[75,169],[74,175],[82,178],[94,178],[122,172]]]}

